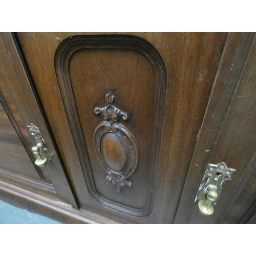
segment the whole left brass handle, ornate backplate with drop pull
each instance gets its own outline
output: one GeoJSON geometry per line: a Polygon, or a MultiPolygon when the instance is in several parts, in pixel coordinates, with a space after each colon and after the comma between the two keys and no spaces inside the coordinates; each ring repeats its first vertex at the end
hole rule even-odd
{"type": "Polygon", "coordinates": [[[41,136],[41,133],[33,123],[31,125],[28,125],[29,127],[29,133],[35,138],[36,146],[32,147],[32,152],[36,155],[35,164],[38,167],[44,167],[47,164],[47,161],[51,160],[51,156],[48,153],[48,150],[46,148],[44,139],[41,136]]]}

